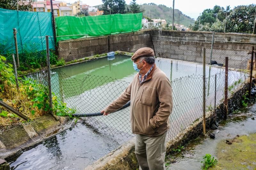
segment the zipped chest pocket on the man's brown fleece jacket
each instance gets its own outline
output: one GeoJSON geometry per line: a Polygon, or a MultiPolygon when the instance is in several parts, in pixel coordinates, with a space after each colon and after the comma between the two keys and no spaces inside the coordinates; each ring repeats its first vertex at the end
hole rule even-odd
{"type": "Polygon", "coordinates": [[[147,106],[155,106],[156,103],[156,89],[145,86],[140,94],[140,104],[147,106]]]}

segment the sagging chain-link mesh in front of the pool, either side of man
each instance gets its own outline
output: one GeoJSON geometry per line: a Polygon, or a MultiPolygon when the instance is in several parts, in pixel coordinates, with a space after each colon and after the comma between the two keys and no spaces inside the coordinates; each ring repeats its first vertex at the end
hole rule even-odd
{"type": "MultiPolygon", "coordinates": [[[[167,73],[173,90],[173,111],[169,119],[171,127],[167,132],[167,140],[170,144],[179,145],[180,143],[177,141],[180,142],[189,129],[196,127],[190,131],[190,135],[197,135],[198,131],[202,130],[202,124],[195,126],[195,123],[200,122],[199,119],[201,120],[203,116],[203,67],[202,64],[166,58],[157,58],[156,64],[167,73]],[[179,72],[183,73],[177,75],[179,72]],[[192,72],[194,74],[191,74],[192,72]]],[[[45,72],[41,73],[31,75],[31,78],[41,79],[46,83],[47,76],[45,72]]],[[[99,112],[115,100],[130,83],[86,72],[77,73],[77,75],[68,76],[61,69],[51,70],[53,101],[57,101],[55,104],[57,107],[62,107],[64,104],[69,113],[99,112]]],[[[247,77],[248,75],[242,72],[228,71],[229,97],[245,83],[247,77]]],[[[205,85],[206,111],[213,113],[215,106],[217,107],[224,100],[225,70],[207,66],[205,85]]],[[[58,115],[58,111],[56,113],[58,115]]],[[[130,128],[129,108],[108,116],[84,117],[82,119],[87,126],[104,133],[125,137],[133,136],[130,128]]],[[[210,117],[207,119],[209,120],[210,117]]]]}

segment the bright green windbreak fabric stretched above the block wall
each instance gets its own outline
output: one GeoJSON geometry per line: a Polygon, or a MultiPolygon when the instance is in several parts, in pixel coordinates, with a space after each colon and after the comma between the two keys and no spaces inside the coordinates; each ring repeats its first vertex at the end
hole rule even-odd
{"type": "Polygon", "coordinates": [[[142,13],[112,14],[87,17],[63,16],[56,18],[57,42],[89,36],[139,31],[142,13]]]}

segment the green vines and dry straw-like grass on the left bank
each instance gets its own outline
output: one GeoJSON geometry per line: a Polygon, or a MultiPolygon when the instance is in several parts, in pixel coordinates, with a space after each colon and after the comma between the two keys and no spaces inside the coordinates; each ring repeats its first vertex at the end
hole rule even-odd
{"type": "MultiPolygon", "coordinates": [[[[0,100],[18,110],[29,120],[42,116],[50,110],[58,116],[72,117],[76,108],[68,108],[66,103],[52,93],[52,108],[49,106],[49,90],[40,80],[19,78],[19,90],[16,88],[12,64],[6,64],[6,58],[0,55],[0,100]]],[[[25,122],[18,115],[0,106],[0,129],[8,129],[13,125],[25,122]]]]}

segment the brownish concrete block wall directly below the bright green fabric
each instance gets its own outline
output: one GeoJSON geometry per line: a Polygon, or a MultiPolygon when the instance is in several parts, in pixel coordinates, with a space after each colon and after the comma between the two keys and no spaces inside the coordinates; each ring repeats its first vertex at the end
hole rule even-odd
{"type": "MultiPolygon", "coordinates": [[[[150,31],[138,31],[109,36],[110,51],[135,52],[142,47],[151,47],[150,31]]],[[[108,36],[59,41],[59,59],[71,61],[108,52],[108,36]]]]}

